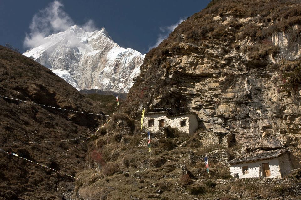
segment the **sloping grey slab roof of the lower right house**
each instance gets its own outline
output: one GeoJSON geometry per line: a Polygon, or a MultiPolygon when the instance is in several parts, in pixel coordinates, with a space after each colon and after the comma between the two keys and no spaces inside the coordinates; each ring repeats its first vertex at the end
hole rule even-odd
{"type": "Polygon", "coordinates": [[[263,153],[246,154],[246,155],[242,155],[240,157],[234,158],[229,163],[236,164],[236,163],[247,163],[247,162],[252,162],[252,161],[256,161],[256,160],[273,159],[273,158],[276,158],[276,157],[282,155],[283,153],[285,153],[287,151],[288,151],[288,148],[277,149],[277,150],[272,150],[272,151],[263,152],[263,153]]]}

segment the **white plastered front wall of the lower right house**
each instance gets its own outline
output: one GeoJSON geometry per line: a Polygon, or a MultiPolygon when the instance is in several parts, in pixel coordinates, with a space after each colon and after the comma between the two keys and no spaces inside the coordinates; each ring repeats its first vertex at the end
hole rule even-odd
{"type": "Polygon", "coordinates": [[[279,159],[259,160],[255,162],[232,164],[230,167],[231,175],[238,174],[239,178],[263,177],[262,163],[269,163],[271,176],[268,178],[282,178],[279,167],[279,159]],[[248,166],[249,173],[243,174],[242,167],[248,166]]]}

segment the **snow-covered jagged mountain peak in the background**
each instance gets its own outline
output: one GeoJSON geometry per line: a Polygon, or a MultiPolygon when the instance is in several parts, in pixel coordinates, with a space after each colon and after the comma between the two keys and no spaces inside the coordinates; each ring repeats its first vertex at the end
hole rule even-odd
{"type": "Polygon", "coordinates": [[[77,25],[45,37],[43,44],[23,55],[50,68],[78,90],[127,93],[140,74],[145,55],[116,44],[102,28],[85,32],[77,25]]]}

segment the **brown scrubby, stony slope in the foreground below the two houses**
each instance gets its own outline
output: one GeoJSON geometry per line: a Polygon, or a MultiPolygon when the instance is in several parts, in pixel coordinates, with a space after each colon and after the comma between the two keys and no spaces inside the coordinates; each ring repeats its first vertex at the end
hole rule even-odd
{"type": "MultiPolygon", "coordinates": [[[[204,146],[198,135],[174,130],[165,138],[155,134],[148,152],[147,135],[134,134],[135,123],[115,114],[103,135],[91,143],[85,170],[66,199],[300,199],[297,179],[231,178],[227,160],[239,147],[204,146]],[[114,150],[113,150],[114,149],[114,150]],[[203,157],[209,155],[211,179],[203,157]]],[[[138,122],[136,126],[139,127],[138,122]]]]}

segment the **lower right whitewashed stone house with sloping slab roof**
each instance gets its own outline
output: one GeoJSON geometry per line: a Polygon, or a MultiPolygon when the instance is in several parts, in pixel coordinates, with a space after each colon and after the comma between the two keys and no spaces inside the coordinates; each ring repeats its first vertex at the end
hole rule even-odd
{"type": "Polygon", "coordinates": [[[243,155],[229,163],[231,175],[236,178],[283,178],[292,170],[287,148],[243,155]]]}

